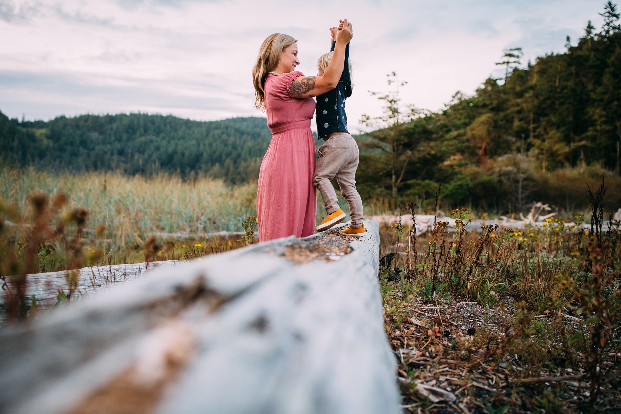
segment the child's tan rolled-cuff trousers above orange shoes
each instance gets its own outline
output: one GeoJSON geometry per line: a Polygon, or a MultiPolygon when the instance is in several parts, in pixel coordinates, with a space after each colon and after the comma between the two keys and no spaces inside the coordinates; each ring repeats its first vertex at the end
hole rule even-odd
{"type": "Polygon", "coordinates": [[[337,193],[332,186],[333,178],[337,179],[341,195],[350,207],[351,228],[359,228],[362,223],[362,199],[356,191],[356,169],[358,168],[358,145],[356,140],[346,132],[334,133],[324,145],[319,147],[319,161],[315,168],[313,184],[324,197],[327,214],[340,209],[337,193]]]}

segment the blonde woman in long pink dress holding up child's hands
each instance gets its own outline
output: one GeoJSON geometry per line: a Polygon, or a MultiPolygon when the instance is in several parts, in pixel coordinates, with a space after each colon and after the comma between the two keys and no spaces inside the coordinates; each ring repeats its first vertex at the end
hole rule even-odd
{"type": "Polygon", "coordinates": [[[265,109],[272,140],[261,162],[256,194],[259,241],[315,232],[317,192],[312,97],[336,88],[345,62],[345,46],[353,34],[343,20],[330,65],[323,76],[304,76],[295,68],[297,40],[273,34],[261,45],[252,71],[256,107],[265,109]]]}

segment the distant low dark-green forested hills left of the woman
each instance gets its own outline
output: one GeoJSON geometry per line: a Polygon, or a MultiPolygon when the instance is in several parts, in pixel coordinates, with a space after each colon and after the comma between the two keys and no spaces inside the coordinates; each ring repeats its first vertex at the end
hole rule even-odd
{"type": "Polygon", "coordinates": [[[228,182],[258,178],[271,140],[265,118],[199,122],[171,115],[64,116],[19,121],[0,112],[5,161],[52,171],[205,173],[228,182]]]}

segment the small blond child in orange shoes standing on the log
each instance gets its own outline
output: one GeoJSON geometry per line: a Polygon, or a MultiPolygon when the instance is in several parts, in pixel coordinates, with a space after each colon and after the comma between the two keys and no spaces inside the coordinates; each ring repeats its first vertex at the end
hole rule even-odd
{"type": "MultiPolygon", "coordinates": [[[[317,68],[319,76],[328,67],[332,59],[337,28],[330,29],[332,32],[331,52],[325,53],[319,58],[317,68]]],[[[332,187],[333,178],[337,179],[341,194],[350,207],[351,225],[341,233],[350,236],[362,236],[365,234],[363,224],[362,200],[356,191],[356,168],[358,168],[358,145],[356,140],[347,131],[347,115],[345,115],[345,100],[351,96],[351,77],[349,64],[349,44],[345,48],[345,66],[338,81],[337,87],[332,91],[317,96],[317,139],[323,138],[324,145],[319,147],[319,161],[313,177],[313,184],[324,198],[325,212],[327,217],[317,226],[317,231],[328,230],[345,220],[345,213],[338,205],[337,193],[332,187]]]]}

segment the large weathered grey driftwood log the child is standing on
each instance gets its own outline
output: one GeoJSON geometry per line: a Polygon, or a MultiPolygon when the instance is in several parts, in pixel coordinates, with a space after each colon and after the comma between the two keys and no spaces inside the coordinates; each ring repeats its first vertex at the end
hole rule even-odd
{"type": "Polygon", "coordinates": [[[399,412],[366,225],[156,270],[2,328],[0,412],[399,412]]]}

